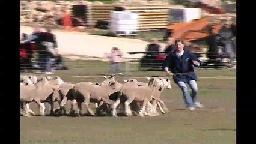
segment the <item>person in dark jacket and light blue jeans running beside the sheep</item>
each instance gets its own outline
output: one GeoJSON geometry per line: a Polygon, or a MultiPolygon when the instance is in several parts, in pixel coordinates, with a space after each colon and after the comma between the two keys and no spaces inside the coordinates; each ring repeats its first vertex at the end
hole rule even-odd
{"type": "Polygon", "coordinates": [[[163,62],[163,68],[169,76],[172,76],[171,72],[176,74],[173,76],[173,79],[182,90],[187,107],[189,107],[189,110],[195,110],[195,107],[203,107],[203,105],[198,102],[197,75],[194,71],[194,67],[200,66],[200,61],[194,53],[184,50],[185,44],[182,40],[176,40],[175,44],[176,49],[173,53],[169,53],[169,55],[166,56],[163,62]],[[186,83],[192,89],[191,95],[189,94],[186,83]]]}

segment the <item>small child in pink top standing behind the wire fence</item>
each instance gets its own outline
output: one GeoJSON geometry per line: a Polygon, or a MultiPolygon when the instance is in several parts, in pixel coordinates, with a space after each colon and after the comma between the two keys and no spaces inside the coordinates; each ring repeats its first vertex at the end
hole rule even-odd
{"type": "Polygon", "coordinates": [[[111,74],[123,75],[123,73],[120,72],[120,58],[123,56],[123,52],[117,47],[113,47],[111,53],[105,53],[105,56],[108,57],[111,62],[111,74]]]}

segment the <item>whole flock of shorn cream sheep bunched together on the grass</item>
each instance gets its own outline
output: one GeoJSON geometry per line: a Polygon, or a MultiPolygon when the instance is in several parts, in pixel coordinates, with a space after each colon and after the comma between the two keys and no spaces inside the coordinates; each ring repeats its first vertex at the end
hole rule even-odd
{"type": "Polygon", "coordinates": [[[124,80],[118,83],[114,76],[103,76],[101,83],[79,82],[68,83],[58,77],[22,76],[20,79],[20,114],[23,116],[35,115],[29,109],[29,103],[35,101],[40,106],[40,115],[44,116],[44,102],[50,103],[50,114],[59,115],[66,112],[65,104],[72,101],[70,113],[81,115],[83,106],[88,114],[100,115],[102,112],[117,116],[117,112],[124,109],[127,116],[156,116],[159,107],[165,113],[167,107],[160,95],[164,89],[171,89],[169,79],[163,77],[147,77],[148,83],[138,82],[136,79],[124,80]],[[59,107],[55,110],[54,102],[59,107]],[[95,103],[96,112],[93,112],[90,103],[95,103]],[[162,104],[162,106],[161,106],[162,104]]]}

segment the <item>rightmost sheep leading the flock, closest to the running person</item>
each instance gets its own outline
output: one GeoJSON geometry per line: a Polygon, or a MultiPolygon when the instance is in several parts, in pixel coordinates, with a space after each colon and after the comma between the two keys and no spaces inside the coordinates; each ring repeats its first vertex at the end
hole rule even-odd
{"type": "MultiPolygon", "coordinates": [[[[171,83],[169,82],[168,79],[164,79],[164,78],[159,78],[159,77],[152,77],[152,78],[147,77],[147,78],[149,79],[148,86],[145,86],[145,83],[141,83],[141,82],[140,82],[140,85],[144,85],[144,86],[137,85],[137,82],[138,82],[137,80],[129,79],[129,80],[126,80],[127,83],[124,83],[124,85],[120,89],[120,96],[124,94],[125,95],[124,99],[127,99],[126,102],[124,103],[124,104],[126,104],[125,106],[126,106],[126,114],[127,115],[131,115],[131,110],[130,110],[129,104],[132,103],[133,100],[143,103],[143,106],[141,109],[142,112],[141,111],[139,112],[139,115],[141,115],[141,116],[144,116],[144,114],[150,115],[149,113],[144,112],[145,106],[147,104],[149,106],[152,106],[150,101],[153,102],[153,106],[154,106],[153,110],[155,110],[155,111],[156,111],[155,104],[157,104],[158,101],[160,101],[160,103],[162,103],[163,106],[166,107],[165,104],[163,103],[163,101],[160,100],[160,93],[165,88],[171,89],[171,83]],[[150,97],[150,100],[148,100],[149,97],[150,97]],[[146,105],[144,105],[145,101],[147,101],[146,105]]],[[[120,103],[120,98],[118,98],[118,100],[114,103],[113,116],[117,116],[116,107],[120,103]]],[[[160,104],[159,104],[159,107],[160,107],[160,110],[163,113],[165,113],[162,110],[162,107],[160,106],[160,104]]]]}

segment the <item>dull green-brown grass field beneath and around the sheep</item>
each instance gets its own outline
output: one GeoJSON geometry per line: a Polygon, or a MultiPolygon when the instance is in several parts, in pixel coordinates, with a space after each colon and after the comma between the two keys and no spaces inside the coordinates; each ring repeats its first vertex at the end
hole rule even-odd
{"type": "MultiPolygon", "coordinates": [[[[100,61],[69,61],[69,70],[56,71],[66,82],[102,82],[109,65],[100,61]],[[75,76],[94,77],[75,77],[75,76]]],[[[138,65],[131,65],[136,70],[138,65]]],[[[122,65],[124,69],[124,65],[122,65]]],[[[125,73],[125,72],[124,72],[125,73]]],[[[236,143],[236,72],[197,70],[198,96],[204,108],[185,109],[180,89],[171,79],[172,89],[162,94],[169,112],[156,117],[20,117],[21,143],[236,143]]],[[[132,71],[128,77],[165,76],[163,72],[132,71]]],[[[118,82],[125,78],[117,77],[118,82]]],[[[38,109],[38,106],[35,106],[38,109]]],[[[33,109],[32,109],[33,110],[33,109]]]]}

